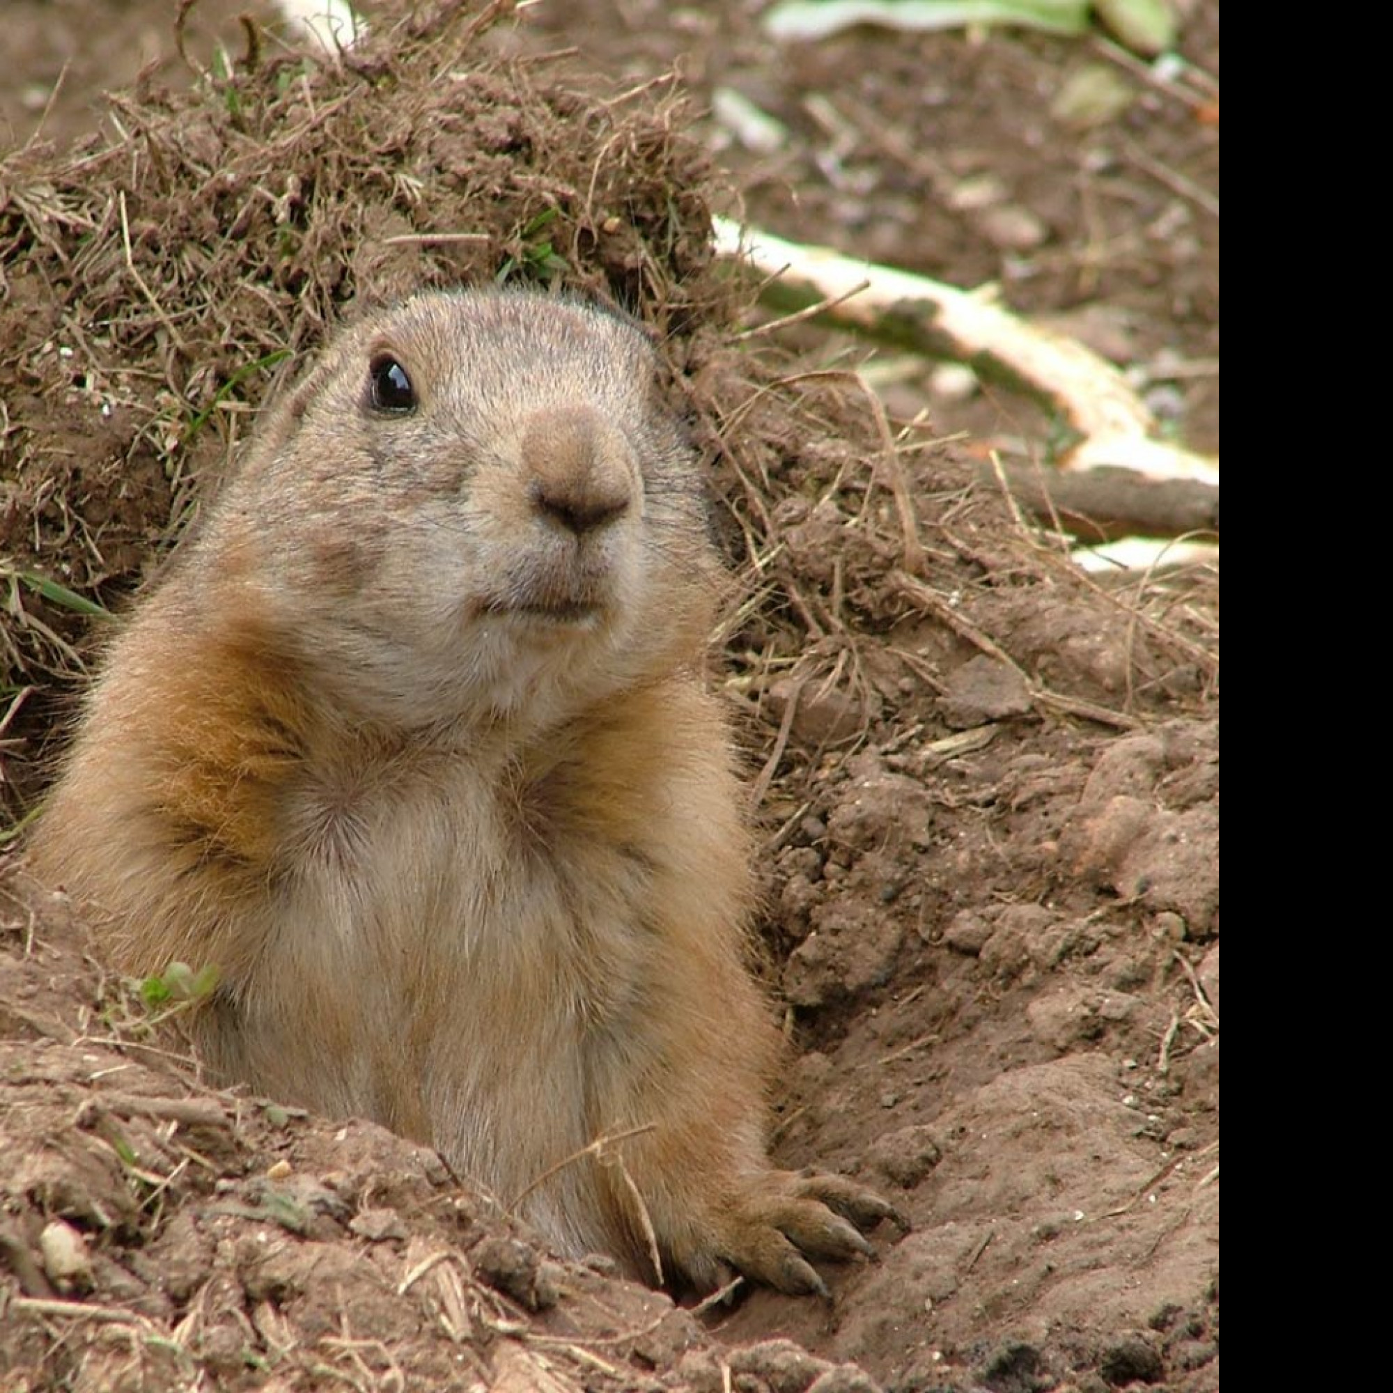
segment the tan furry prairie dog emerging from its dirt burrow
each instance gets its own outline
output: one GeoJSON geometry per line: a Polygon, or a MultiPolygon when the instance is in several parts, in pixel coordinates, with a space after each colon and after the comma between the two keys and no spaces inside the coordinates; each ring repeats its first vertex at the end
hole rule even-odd
{"type": "Polygon", "coordinates": [[[634,325],[419,294],[263,417],[137,606],[36,868],[118,968],[216,967],[220,1080],[439,1148],[561,1254],[652,1280],[651,1224],[664,1276],[825,1291],[807,1259],[889,1206],[766,1156],[719,592],[634,325]]]}

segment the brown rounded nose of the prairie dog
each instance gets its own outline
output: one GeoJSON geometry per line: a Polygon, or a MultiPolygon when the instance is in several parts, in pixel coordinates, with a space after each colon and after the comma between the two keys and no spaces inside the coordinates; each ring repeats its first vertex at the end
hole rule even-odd
{"type": "Polygon", "coordinates": [[[632,501],[628,446],[592,407],[535,412],[522,429],[521,464],[532,507],[577,536],[632,501]]]}

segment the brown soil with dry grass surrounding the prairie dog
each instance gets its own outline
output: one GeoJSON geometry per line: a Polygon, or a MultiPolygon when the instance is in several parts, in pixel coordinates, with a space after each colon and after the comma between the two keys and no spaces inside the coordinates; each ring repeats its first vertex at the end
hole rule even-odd
{"type": "MultiPolygon", "coordinates": [[[[199,6],[189,54],[242,53],[241,8],[199,6]]],[[[932,426],[885,458],[859,387],[800,380],[841,344],[733,341],[748,291],[702,241],[738,188],[784,235],[1000,279],[1145,368],[1211,449],[1212,113],[1131,78],[1124,111],[1063,127],[1061,82],[1102,61],[1087,42],[779,50],[736,3],[547,8],[468,43],[458,24],[401,33],[304,82],[267,43],[256,72],[185,98],[163,91],[184,82],[164,0],[13,0],[17,148],[70,67],[45,118],[59,148],[0,163],[0,793],[11,816],[38,795],[92,639],[11,577],[118,606],[273,386],[270,354],[354,298],[508,258],[545,276],[550,241],[568,283],[664,336],[748,582],[724,674],[791,1041],[776,1153],[872,1180],[912,1230],[829,1269],[830,1305],[752,1291],[692,1314],[554,1263],[380,1128],[202,1088],[11,857],[3,1386],[1216,1389],[1212,577],[1099,585],[1024,531],[974,482],[983,442],[1041,453],[1048,422],[1018,403],[904,379],[892,414],[928,404],[932,426]],[[536,61],[566,45],[579,56],[536,61]],[[156,56],[121,128],[64,153],[98,130],[96,89],[156,56]],[[623,96],[678,60],[676,93],[623,96]],[[446,65],[468,74],[447,98],[446,65]],[[752,155],[683,107],[715,85],[787,143],[752,155]],[[384,241],[461,230],[485,241],[384,241]],[[942,442],[960,428],[965,446],[942,442]]],[[[1184,36],[1215,74],[1217,6],[1184,36]]]]}

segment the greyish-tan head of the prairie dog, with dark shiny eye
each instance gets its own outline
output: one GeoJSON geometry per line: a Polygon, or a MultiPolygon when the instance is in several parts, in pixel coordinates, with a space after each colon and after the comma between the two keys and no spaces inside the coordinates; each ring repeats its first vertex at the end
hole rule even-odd
{"type": "Polygon", "coordinates": [[[618,316],[429,293],[344,332],[262,422],[188,559],[359,719],[532,716],[699,652],[696,464],[618,316]]]}

